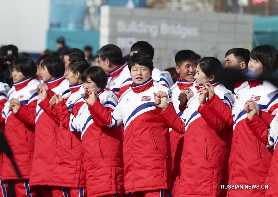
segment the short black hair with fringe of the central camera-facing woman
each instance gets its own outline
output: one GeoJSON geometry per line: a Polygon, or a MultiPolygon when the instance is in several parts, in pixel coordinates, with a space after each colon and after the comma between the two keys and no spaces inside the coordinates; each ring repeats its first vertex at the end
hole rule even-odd
{"type": "Polygon", "coordinates": [[[127,65],[129,72],[131,71],[132,66],[134,66],[135,64],[146,66],[150,69],[150,71],[152,71],[153,69],[152,57],[147,53],[138,52],[133,53],[133,55],[130,56],[127,65]]]}

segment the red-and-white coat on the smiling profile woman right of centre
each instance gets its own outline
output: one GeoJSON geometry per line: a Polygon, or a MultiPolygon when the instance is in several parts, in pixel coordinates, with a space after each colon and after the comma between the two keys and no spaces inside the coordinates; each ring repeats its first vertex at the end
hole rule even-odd
{"type": "MultiPolygon", "coordinates": [[[[228,90],[217,87],[233,99],[228,90]]],[[[193,111],[195,105],[198,108],[198,98],[199,94],[190,99],[189,106],[193,111]]],[[[169,127],[179,133],[185,132],[177,196],[225,196],[227,190],[221,189],[221,184],[228,183],[232,128],[213,116],[206,106],[199,107],[194,113],[187,110],[186,117],[190,118],[186,123],[177,115],[173,105],[158,110],[169,127]]]]}

